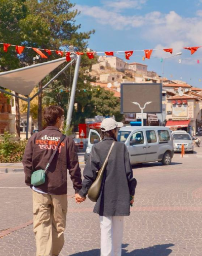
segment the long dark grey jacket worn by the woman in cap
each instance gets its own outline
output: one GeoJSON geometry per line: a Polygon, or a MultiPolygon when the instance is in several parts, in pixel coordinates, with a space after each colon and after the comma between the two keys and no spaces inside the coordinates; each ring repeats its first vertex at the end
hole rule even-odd
{"type": "MultiPolygon", "coordinates": [[[[102,167],[113,140],[113,138],[104,137],[101,142],[93,145],[84,168],[80,196],[87,195],[96,178],[96,171],[102,167]]],[[[93,211],[100,216],[130,215],[130,195],[135,194],[136,184],[126,145],[116,141],[109,156],[100,196],[93,211]]]]}

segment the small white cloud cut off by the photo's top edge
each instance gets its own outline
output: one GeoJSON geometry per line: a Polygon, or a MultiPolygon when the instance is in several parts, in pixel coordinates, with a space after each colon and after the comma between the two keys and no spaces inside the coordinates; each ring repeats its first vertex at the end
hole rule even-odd
{"type": "Polygon", "coordinates": [[[141,9],[142,6],[148,0],[116,0],[116,1],[107,1],[103,0],[102,3],[107,8],[113,8],[115,11],[121,11],[124,9],[141,9]]]}

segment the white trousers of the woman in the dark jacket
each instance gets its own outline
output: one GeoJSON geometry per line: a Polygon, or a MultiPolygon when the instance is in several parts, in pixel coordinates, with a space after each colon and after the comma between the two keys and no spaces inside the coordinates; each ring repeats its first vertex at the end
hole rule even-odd
{"type": "Polygon", "coordinates": [[[124,216],[100,216],[101,256],[121,256],[124,216]]]}

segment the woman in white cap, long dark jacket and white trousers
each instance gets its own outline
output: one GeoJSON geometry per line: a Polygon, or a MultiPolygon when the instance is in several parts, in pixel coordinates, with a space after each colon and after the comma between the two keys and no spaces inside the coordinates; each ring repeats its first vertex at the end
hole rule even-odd
{"type": "Polygon", "coordinates": [[[116,139],[118,128],[123,125],[112,118],[102,121],[102,141],[92,147],[84,168],[83,187],[79,191],[82,202],[96,178],[96,171],[102,167],[112,142],[115,141],[105,168],[100,195],[93,210],[100,215],[101,256],[122,254],[124,216],[130,215],[130,204],[134,202],[137,181],[133,178],[126,145],[116,139]]]}

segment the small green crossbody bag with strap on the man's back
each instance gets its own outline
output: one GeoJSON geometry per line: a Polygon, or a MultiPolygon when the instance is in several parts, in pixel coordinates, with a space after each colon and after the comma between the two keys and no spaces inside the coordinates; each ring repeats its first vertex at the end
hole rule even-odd
{"type": "Polygon", "coordinates": [[[37,170],[37,171],[34,171],[32,174],[31,174],[31,185],[33,185],[34,187],[36,186],[39,186],[39,185],[42,185],[45,183],[45,180],[46,180],[46,171],[47,169],[49,168],[58,148],[59,148],[59,145],[61,144],[61,142],[64,140],[66,136],[64,134],[62,134],[62,137],[61,137],[61,140],[59,141],[58,145],[57,145],[57,148],[54,150],[53,152],[53,155],[51,156],[45,170],[41,169],[41,170],[37,170]]]}

